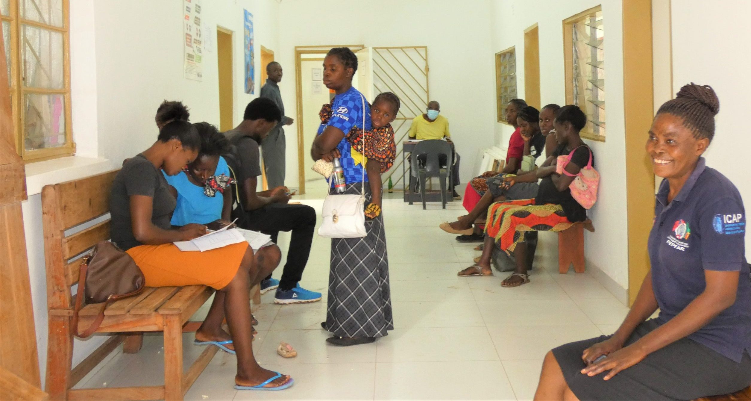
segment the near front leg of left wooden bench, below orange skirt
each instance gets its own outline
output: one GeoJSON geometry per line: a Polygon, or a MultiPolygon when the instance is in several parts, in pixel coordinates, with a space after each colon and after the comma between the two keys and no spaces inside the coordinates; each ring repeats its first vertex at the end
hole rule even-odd
{"type": "Polygon", "coordinates": [[[182,401],[182,324],[179,315],[164,315],[164,400],[182,401]]]}

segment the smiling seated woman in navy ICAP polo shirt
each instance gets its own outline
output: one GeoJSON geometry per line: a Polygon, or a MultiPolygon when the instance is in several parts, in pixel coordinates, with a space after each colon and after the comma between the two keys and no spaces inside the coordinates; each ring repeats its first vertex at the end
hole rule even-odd
{"type": "Polygon", "coordinates": [[[743,201],[701,157],[718,111],[714,91],[693,83],[657,111],[652,269],[616,333],[547,353],[535,399],[696,399],[751,384],[743,201]]]}

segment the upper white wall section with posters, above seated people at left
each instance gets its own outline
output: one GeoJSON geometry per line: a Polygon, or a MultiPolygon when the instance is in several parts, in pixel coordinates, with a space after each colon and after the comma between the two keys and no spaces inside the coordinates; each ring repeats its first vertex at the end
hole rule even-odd
{"type": "MultiPolygon", "coordinates": [[[[261,89],[261,45],[278,48],[279,3],[275,0],[204,0],[203,23],[234,32],[234,120],[261,89]],[[243,8],[253,14],[255,30],[255,95],[243,89],[243,8]]],[[[219,83],[216,33],[213,52],[204,59],[204,80],[182,74],[181,0],[95,2],[98,128],[107,140],[100,155],[121,161],[146,149],[156,139],[154,113],[165,98],[180,100],[191,110],[191,121],[219,123],[219,83]],[[147,11],[147,12],[145,12],[147,11]],[[134,22],[137,21],[137,28],[134,22]]],[[[215,29],[216,31],[216,29],[215,29]]]]}

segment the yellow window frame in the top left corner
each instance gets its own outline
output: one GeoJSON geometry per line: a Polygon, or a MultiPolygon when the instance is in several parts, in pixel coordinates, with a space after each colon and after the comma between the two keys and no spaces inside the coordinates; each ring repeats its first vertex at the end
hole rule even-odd
{"type": "MultiPolygon", "coordinates": [[[[23,0],[10,0],[8,15],[0,15],[0,20],[7,21],[10,26],[10,43],[5,46],[11,47],[11,104],[13,107],[14,139],[18,155],[24,161],[43,161],[50,158],[59,158],[73,155],[76,152],[76,144],[73,141],[73,122],[71,108],[71,44],[70,44],[70,4],[69,0],[61,0],[62,3],[62,27],[47,25],[33,20],[25,20],[20,16],[20,2],[23,0]],[[20,85],[22,80],[22,53],[21,38],[23,26],[32,26],[62,34],[62,89],[44,89],[20,85]],[[65,118],[65,146],[57,146],[45,149],[26,149],[26,121],[23,108],[27,94],[38,95],[62,95],[65,101],[63,116],[65,118]]],[[[2,55],[5,56],[5,55],[2,55]]]]}

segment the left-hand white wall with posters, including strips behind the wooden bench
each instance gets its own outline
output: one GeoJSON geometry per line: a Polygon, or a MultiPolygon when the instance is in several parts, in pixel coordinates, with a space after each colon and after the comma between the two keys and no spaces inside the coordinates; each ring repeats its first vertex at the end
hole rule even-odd
{"type": "MultiPolygon", "coordinates": [[[[279,46],[279,0],[203,0],[202,5],[204,25],[212,26],[214,31],[217,25],[234,31],[234,115],[239,123],[246,104],[258,96],[261,88],[261,45],[270,49],[279,46]],[[243,92],[243,8],[254,18],[255,95],[243,92]]],[[[186,80],[182,74],[182,0],[131,0],[128,7],[121,2],[71,0],[70,10],[71,104],[77,156],[109,158],[113,166],[119,166],[123,158],[148,148],[157,135],[156,107],[165,98],[188,105],[194,122],[219,124],[216,33],[212,37],[212,51],[204,55],[204,80],[186,80]]],[[[97,164],[100,170],[102,164],[97,164]]],[[[27,165],[26,169],[44,170],[35,164],[27,165]]],[[[64,180],[59,174],[55,179],[44,183],[64,180]]],[[[29,193],[22,208],[44,382],[47,288],[41,195],[34,192],[29,193]]],[[[85,342],[77,340],[74,365],[101,342],[103,339],[96,336],[85,342]]]]}

